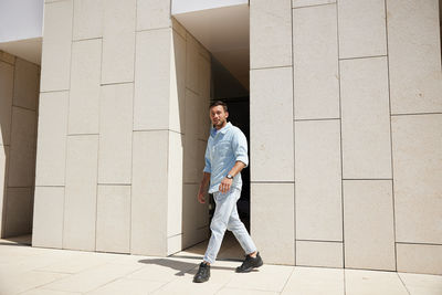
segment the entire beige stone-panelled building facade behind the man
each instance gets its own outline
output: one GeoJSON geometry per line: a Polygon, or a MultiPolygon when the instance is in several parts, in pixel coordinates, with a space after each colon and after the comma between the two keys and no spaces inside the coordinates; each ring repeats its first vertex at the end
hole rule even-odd
{"type": "Polygon", "coordinates": [[[215,2],[44,1],[41,73],[0,55],[1,235],[160,256],[206,240],[208,106],[233,85],[217,59],[250,92],[265,262],[442,274],[440,1],[215,2]]]}

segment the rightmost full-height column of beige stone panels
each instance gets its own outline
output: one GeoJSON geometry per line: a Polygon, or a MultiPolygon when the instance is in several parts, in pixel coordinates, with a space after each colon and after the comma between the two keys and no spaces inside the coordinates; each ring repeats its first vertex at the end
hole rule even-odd
{"type": "Polygon", "coordinates": [[[441,274],[440,1],[386,1],[397,270],[441,274]]]}

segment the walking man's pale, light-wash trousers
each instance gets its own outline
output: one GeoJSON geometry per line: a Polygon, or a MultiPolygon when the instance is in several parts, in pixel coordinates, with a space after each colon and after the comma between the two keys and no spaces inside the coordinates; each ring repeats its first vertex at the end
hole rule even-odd
{"type": "Polygon", "coordinates": [[[214,202],[217,203],[210,230],[209,245],[204,254],[204,261],[210,264],[214,263],[218,252],[220,251],[222,239],[225,230],[233,232],[238,242],[240,242],[245,254],[256,251],[256,246],[250,238],[244,223],[241,222],[238,214],[236,202],[241,197],[241,190],[231,188],[228,192],[222,193],[217,191],[213,193],[214,202]]]}

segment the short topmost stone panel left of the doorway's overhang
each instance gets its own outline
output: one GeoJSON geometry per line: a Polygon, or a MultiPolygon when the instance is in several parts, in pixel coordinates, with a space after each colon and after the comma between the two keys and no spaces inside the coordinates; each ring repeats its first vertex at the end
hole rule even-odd
{"type": "Polygon", "coordinates": [[[171,25],[170,1],[137,0],[137,31],[171,25]]]}

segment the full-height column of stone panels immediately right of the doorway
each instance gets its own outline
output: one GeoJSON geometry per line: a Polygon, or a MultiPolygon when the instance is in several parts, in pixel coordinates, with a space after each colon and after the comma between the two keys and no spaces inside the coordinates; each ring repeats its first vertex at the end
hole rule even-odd
{"type": "Polygon", "coordinates": [[[250,1],[250,167],[252,238],[267,262],[293,265],[291,8],[290,0],[250,1]]]}

